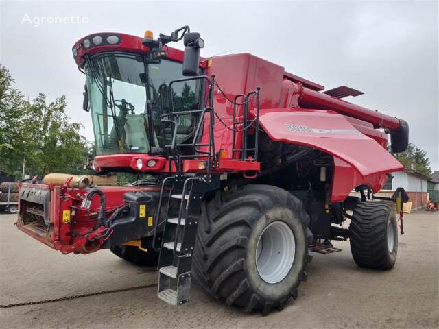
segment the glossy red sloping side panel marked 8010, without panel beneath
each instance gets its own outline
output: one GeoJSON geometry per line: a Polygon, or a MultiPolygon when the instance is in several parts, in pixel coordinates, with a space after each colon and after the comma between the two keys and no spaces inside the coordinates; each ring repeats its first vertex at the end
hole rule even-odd
{"type": "Polygon", "coordinates": [[[363,177],[403,170],[392,154],[331,110],[261,110],[259,123],[274,141],[320,149],[351,164],[363,177]]]}

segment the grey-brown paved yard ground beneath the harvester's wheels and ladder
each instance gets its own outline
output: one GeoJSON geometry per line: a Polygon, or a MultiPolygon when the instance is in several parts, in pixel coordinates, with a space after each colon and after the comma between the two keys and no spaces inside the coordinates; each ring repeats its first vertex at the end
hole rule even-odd
{"type": "MultiPolygon", "coordinates": [[[[56,252],[0,215],[0,304],[47,300],[154,284],[154,269],[136,267],[108,251],[56,252]]],[[[439,213],[405,217],[406,234],[391,271],[361,269],[349,244],[342,252],[314,254],[299,297],[262,317],[241,313],[193,285],[178,308],[156,298],[156,287],[75,300],[0,308],[0,328],[438,328],[439,213]]]]}

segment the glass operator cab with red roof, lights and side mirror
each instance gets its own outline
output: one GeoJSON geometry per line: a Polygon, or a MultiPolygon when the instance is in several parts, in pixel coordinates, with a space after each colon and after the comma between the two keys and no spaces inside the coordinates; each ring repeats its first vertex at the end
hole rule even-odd
{"type": "MultiPolygon", "coordinates": [[[[175,81],[198,75],[203,46],[200,34],[190,33],[189,27],[171,36],[161,34],[156,40],[147,31],[143,39],[92,34],[75,43],[73,57],[86,76],[83,108],[91,112],[98,159],[123,154],[126,159],[128,154],[166,155],[165,145],[171,144],[174,127],[163,122],[165,116],[204,107],[205,80],[175,81]],[[183,37],[184,53],[165,46],[183,37]]],[[[174,117],[176,143],[193,142],[199,117],[199,112],[174,117]]],[[[117,171],[137,169],[129,159],[117,167],[117,171]]]]}

